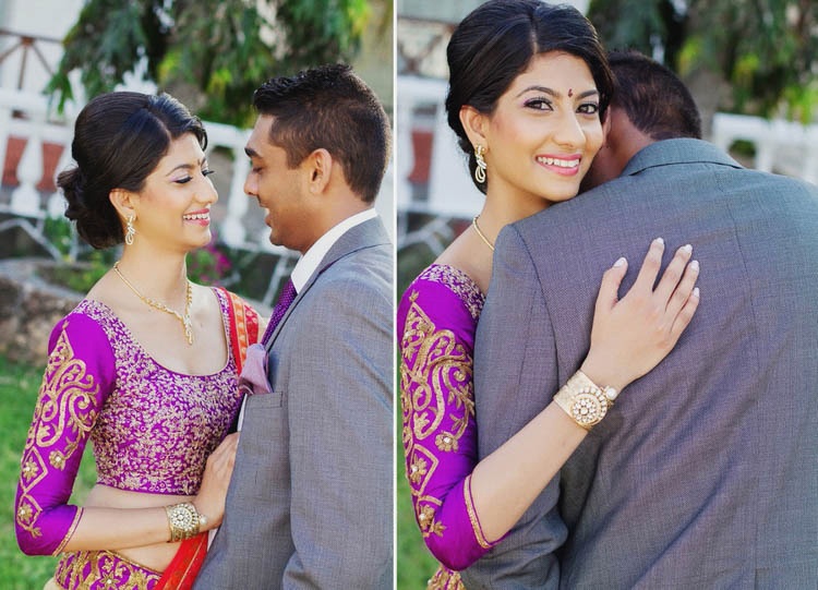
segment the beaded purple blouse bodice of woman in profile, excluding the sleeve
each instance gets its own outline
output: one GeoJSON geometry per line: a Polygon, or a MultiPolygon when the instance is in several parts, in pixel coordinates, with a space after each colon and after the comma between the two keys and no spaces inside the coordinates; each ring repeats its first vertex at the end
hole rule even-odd
{"type": "MultiPolygon", "coordinates": [[[[221,293],[217,297],[226,318],[227,302],[221,293]]],[[[213,375],[176,373],[151,358],[106,305],[85,300],[77,312],[103,327],[116,358],[117,387],[91,433],[98,483],[147,493],[197,493],[207,457],[241,402],[232,353],[213,375]]]]}

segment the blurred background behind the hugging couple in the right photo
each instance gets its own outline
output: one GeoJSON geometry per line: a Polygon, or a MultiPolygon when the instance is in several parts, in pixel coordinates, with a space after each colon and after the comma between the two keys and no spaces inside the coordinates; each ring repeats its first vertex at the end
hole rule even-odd
{"type": "MultiPolygon", "coordinates": [[[[395,4],[398,297],[482,206],[443,109],[446,44],[480,3],[395,4]]],[[[745,166],[818,183],[818,2],[567,3],[593,22],[606,48],[638,49],[679,74],[701,111],[705,139],[745,166]]],[[[398,588],[422,589],[435,564],[414,522],[400,448],[397,462],[398,588]]]]}

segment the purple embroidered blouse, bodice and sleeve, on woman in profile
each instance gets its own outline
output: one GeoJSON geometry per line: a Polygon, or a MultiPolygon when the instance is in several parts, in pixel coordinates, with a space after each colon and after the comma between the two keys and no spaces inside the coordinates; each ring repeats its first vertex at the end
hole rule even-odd
{"type": "MultiPolygon", "coordinates": [[[[228,302],[214,290],[229,342],[228,302]]],[[[193,495],[207,457],[239,410],[236,361],[210,375],[164,368],[103,303],[83,300],[51,332],[49,357],[17,482],[17,542],[57,554],[82,508],[67,504],[88,440],[97,483],[193,495]]]]}

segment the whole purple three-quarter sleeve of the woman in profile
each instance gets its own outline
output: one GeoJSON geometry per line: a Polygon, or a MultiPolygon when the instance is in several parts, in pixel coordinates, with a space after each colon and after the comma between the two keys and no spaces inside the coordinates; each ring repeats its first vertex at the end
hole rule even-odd
{"type": "Polygon", "coordinates": [[[92,318],[70,314],[51,332],[48,364],[21,460],[15,532],[28,555],[56,555],[82,509],[68,504],[88,434],[116,380],[113,352],[92,318]]]}

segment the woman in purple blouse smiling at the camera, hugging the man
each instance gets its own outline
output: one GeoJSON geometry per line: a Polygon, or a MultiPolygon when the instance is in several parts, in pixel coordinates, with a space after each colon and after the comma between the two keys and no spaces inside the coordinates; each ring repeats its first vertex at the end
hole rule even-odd
{"type": "Polygon", "coordinates": [[[526,428],[478,461],[472,360],[494,239],[506,224],[577,194],[603,142],[613,77],[591,24],[573,8],[539,0],[480,5],[454,32],[447,57],[449,125],[485,204],[409,286],[397,325],[407,477],[423,539],[442,563],[429,587],[454,589],[462,587],[457,570],[508,532],[616,392],[670,352],[699,296],[689,246],[675,253],[654,289],[664,245],[653,241],[621,300],[627,262],[619,258],[601,279],[580,372],[526,428]],[[587,404],[565,404],[577,389],[590,394],[587,404]]]}

